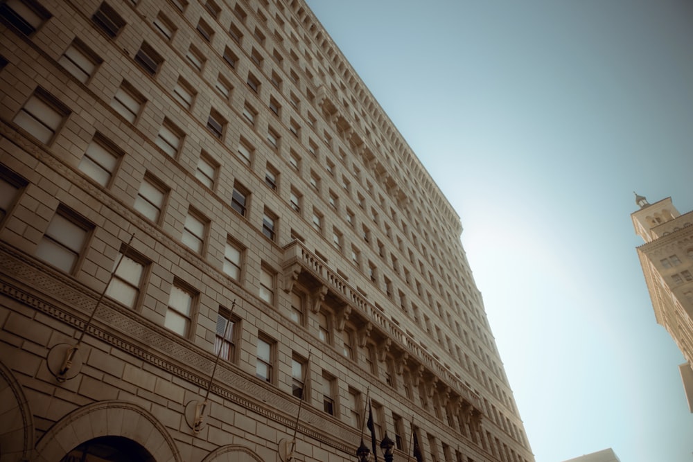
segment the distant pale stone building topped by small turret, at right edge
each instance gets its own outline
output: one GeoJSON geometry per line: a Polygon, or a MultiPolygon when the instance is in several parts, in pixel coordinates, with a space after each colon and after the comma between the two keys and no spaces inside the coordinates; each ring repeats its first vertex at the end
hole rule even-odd
{"type": "Polygon", "coordinates": [[[635,233],[645,241],[638,257],[657,323],[676,341],[686,362],[679,366],[693,412],[693,212],[678,213],[667,197],[649,204],[635,196],[635,233]]]}

